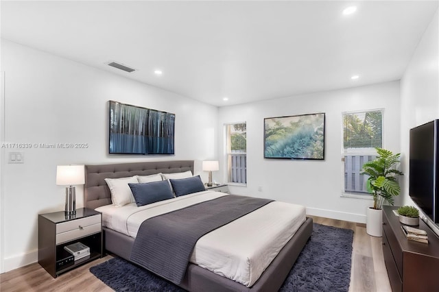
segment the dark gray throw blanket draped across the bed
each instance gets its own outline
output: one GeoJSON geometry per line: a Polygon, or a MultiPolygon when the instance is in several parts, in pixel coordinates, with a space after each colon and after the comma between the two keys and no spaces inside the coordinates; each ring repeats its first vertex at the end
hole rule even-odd
{"type": "Polygon", "coordinates": [[[143,221],[131,260],[180,284],[193,247],[201,236],[266,204],[270,199],[226,195],[143,221]]]}

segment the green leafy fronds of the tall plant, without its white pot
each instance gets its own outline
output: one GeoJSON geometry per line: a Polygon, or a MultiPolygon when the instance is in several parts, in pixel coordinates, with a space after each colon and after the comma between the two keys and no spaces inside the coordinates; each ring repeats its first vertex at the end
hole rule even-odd
{"type": "Polygon", "coordinates": [[[393,197],[401,192],[396,175],[403,175],[403,173],[396,169],[401,154],[393,154],[392,151],[382,148],[375,149],[378,154],[377,158],[366,162],[361,174],[369,176],[367,188],[373,197],[373,208],[381,210],[384,203],[393,206],[393,197]]]}

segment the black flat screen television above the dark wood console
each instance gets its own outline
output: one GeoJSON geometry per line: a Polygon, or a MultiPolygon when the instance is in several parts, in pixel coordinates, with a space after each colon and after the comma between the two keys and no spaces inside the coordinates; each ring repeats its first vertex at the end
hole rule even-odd
{"type": "Polygon", "coordinates": [[[410,130],[409,195],[439,225],[439,120],[410,130]]]}

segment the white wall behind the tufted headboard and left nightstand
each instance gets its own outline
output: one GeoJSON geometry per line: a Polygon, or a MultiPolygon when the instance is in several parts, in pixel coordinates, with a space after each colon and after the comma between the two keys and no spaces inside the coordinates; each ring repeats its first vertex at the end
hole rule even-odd
{"type": "MultiPolygon", "coordinates": [[[[38,213],[64,210],[56,165],[201,160],[217,155],[217,108],[13,42],[1,42],[5,71],[5,141],[88,143],[87,149],[23,151],[24,164],[3,162],[5,271],[36,261],[38,213]],[[108,100],[176,114],[175,156],[109,156],[108,100]]],[[[2,143],[4,143],[2,141],[2,143]]],[[[206,176],[205,173],[203,175],[206,176]]],[[[77,207],[83,206],[77,188],[77,207]]]]}

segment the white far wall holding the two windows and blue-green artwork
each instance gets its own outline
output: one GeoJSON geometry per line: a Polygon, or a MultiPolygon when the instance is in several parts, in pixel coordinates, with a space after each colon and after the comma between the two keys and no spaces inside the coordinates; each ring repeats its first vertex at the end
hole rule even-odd
{"type": "MultiPolygon", "coordinates": [[[[309,215],[366,222],[368,199],[341,197],[342,112],[384,108],[384,145],[399,147],[399,82],[332,90],[219,108],[219,129],[224,123],[247,122],[247,186],[230,186],[232,193],[270,197],[302,204],[309,215]],[[263,158],[263,119],[324,112],[325,160],[263,158]],[[261,186],[262,191],[258,191],[261,186]]],[[[219,138],[222,149],[224,139],[219,138]]],[[[219,157],[222,157],[219,154],[219,157]]],[[[222,160],[221,169],[224,167],[222,160]]]]}

